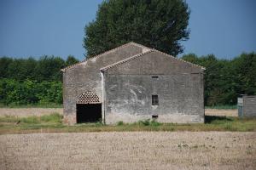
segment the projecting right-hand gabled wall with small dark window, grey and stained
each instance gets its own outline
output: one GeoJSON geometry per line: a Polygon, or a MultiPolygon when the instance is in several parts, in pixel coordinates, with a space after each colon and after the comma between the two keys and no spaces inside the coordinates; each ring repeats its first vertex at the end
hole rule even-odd
{"type": "Polygon", "coordinates": [[[153,115],[159,122],[204,122],[200,67],[154,51],[109,68],[104,76],[106,123],[153,115]],[[159,96],[159,105],[152,105],[152,94],[159,96]]]}

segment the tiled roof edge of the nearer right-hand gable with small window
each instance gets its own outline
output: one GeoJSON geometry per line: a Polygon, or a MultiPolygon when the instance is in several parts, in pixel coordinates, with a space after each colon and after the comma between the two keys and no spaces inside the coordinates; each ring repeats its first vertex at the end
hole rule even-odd
{"type": "MultiPolygon", "coordinates": [[[[150,50],[148,50],[148,51],[146,51],[146,52],[144,52],[144,53],[136,54],[136,55],[133,55],[133,56],[127,58],[127,59],[120,60],[120,61],[118,61],[118,62],[116,62],[116,63],[113,63],[112,65],[105,66],[105,67],[101,68],[100,70],[101,70],[101,71],[107,71],[108,69],[113,68],[114,66],[124,64],[124,63],[126,63],[126,62],[131,61],[132,59],[137,59],[138,57],[141,57],[141,56],[143,56],[144,54],[149,54],[149,53],[152,53],[152,52],[157,52],[157,53],[160,53],[160,54],[164,54],[164,55],[166,55],[166,56],[168,56],[168,57],[171,57],[172,59],[177,59],[176,57],[173,57],[172,55],[165,54],[165,53],[163,53],[163,52],[160,52],[160,51],[158,51],[158,50],[156,50],[156,49],[152,49],[152,48],[151,48],[150,50]]],[[[189,61],[185,61],[185,60],[183,60],[183,59],[177,59],[177,60],[182,61],[182,62],[184,62],[184,63],[187,63],[187,64],[189,64],[189,65],[195,66],[195,67],[199,67],[199,68],[201,68],[202,70],[206,70],[206,68],[205,68],[205,67],[202,67],[201,65],[195,65],[195,64],[190,63],[189,61]]]]}

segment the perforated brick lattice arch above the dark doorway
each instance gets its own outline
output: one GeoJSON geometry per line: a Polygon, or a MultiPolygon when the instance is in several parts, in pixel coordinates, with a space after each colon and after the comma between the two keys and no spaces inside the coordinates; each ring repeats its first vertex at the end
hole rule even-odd
{"type": "Polygon", "coordinates": [[[77,103],[78,104],[99,104],[100,99],[95,93],[87,91],[79,96],[77,103]]]}

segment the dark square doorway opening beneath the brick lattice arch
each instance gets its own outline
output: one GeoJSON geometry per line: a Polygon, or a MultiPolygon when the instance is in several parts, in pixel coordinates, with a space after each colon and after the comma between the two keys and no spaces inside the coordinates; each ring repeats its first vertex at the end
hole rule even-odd
{"type": "Polygon", "coordinates": [[[102,104],[77,104],[77,123],[100,122],[102,104]]]}

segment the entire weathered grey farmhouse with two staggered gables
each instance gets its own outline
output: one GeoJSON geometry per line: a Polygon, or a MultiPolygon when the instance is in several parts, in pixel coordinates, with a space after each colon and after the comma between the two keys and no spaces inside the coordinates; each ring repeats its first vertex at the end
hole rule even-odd
{"type": "Polygon", "coordinates": [[[204,70],[126,43],[61,70],[64,122],[204,122],[204,70]]]}

